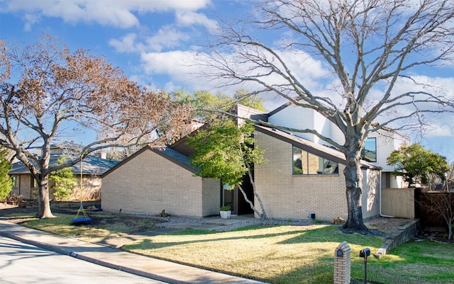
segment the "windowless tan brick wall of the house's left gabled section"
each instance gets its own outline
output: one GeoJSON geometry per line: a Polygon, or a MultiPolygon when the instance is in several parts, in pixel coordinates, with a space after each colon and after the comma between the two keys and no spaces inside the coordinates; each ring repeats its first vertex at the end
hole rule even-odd
{"type": "Polygon", "coordinates": [[[219,213],[220,183],[194,176],[191,171],[151,150],[104,176],[103,210],[156,215],[201,217],[219,213]]]}

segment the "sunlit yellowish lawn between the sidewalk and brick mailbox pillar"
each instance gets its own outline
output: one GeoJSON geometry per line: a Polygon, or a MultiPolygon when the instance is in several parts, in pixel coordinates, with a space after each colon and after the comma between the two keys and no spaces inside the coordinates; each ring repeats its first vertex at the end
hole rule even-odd
{"type": "Polygon", "coordinates": [[[382,244],[379,237],[343,234],[327,225],[255,226],[216,233],[186,230],[123,249],[270,283],[332,283],[334,250],[345,240],[353,254],[366,244],[372,250],[382,244]]]}

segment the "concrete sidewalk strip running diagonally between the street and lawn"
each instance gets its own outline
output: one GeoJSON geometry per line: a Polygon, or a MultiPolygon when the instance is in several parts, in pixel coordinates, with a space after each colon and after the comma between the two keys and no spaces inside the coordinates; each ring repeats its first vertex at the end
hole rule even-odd
{"type": "Polygon", "coordinates": [[[61,237],[48,232],[30,229],[21,225],[0,220],[0,234],[26,244],[40,246],[50,251],[73,256],[109,268],[134,273],[167,283],[183,284],[260,284],[262,282],[229,276],[223,273],[184,266],[170,261],[161,261],[147,256],[131,254],[109,246],[81,242],[77,239],[61,237]]]}

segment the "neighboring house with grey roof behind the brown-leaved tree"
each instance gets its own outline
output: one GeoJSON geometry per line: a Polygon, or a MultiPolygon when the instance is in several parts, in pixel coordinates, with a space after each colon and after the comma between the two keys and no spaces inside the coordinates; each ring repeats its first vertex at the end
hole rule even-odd
{"type": "MultiPolygon", "coordinates": [[[[52,145],[50,164],[57,164],[58,158],[63,154],[62,148],[52,145]]],[[[77,183],[74,186],[70,200],[80,200],[80,177],[82,175],[82,198],[84,200],[99,200],[101,192],[101,175],[111,167],[118,164],[118,161],[109,161],[103,158],[102,154],[93,154],[84,157],[82,161],[82,172],[80,163],[72,166],[74,176],[77,178],[77,183]]],[[[22,195],[25,199],[36,198],[37,184],[31,176],[30,171],[21,161],[13,162],[13,168],[8,172],[13,180],[12,194],[22,195]]],[[[52,182],[50,182],[50,198],[52,182]]]]}

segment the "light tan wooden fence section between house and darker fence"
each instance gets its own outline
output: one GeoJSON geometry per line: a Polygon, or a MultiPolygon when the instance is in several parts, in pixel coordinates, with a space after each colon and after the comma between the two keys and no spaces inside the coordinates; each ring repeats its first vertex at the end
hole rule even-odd
{"type": "Polygon", "coordinates": [[[383,188],[382,215],[415,218],[414,188],[383,188]]]}

